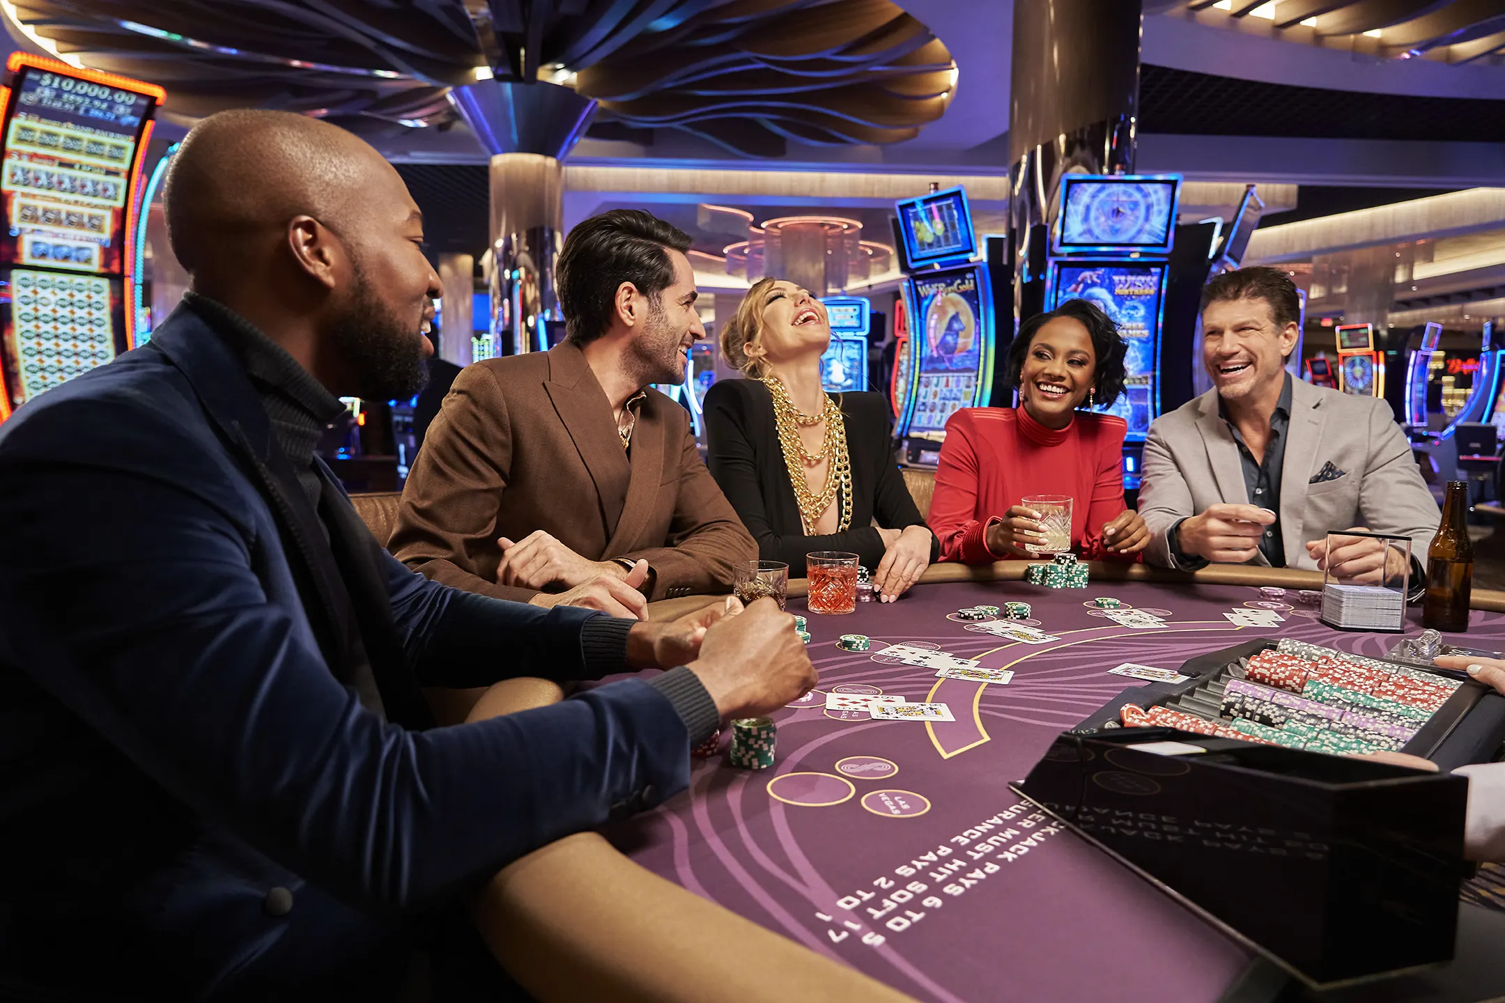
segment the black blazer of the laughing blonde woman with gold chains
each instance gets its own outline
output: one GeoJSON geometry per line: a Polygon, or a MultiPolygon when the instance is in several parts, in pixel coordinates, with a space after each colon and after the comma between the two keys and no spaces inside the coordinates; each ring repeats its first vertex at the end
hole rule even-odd
{"type": "MultiPolygon", "coordinates": [[[[790,577],[804,577],[805,555],[811,550],[847,550],[876,571],[885,547],[873,528],[874,516],[885,529],[926,525],[894,463],[888,402],[882,394],[835,394],[835,400],[852,465],[852,526],[846,532],[807,537],[768,386],[756,379],[722,379],[706,391],[710,475],[757,540],[759,556],[786,562],[790,577]]],[[[932,541],[932,561],[938,550],[939,543],[932,541]]]]}

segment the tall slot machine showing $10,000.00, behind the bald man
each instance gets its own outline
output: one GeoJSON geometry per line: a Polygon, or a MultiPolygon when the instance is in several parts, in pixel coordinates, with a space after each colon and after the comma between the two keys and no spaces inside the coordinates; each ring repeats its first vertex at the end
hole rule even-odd
{"type": "Polygon", "coordinates": [[[128,308],[155,86],[29,53],[0,87],[0,421],[135,347],[128,308]]]}

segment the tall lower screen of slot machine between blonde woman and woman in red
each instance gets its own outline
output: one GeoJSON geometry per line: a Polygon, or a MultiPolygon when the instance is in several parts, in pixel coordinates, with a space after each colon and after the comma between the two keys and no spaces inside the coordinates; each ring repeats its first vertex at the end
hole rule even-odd
{"type": "Polygon", "coordinates": [[[921,272],[914,283],[912,391],[905,435],[941,441],[959,408],[993,385],[993,304],[986,265],[921,272]]]}

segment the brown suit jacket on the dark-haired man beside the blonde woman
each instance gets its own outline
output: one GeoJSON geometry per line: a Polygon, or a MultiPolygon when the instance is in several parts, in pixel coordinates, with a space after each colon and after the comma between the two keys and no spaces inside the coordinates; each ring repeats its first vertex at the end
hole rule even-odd
{"type": "Polygon", "coordinates": [[[552,534],[591,561],[643,558],[649,598],[727,592],[757,544],[710,478],[689,414],[650,389],[632,451],[570,341],[486,359],[456,379],[402,492],[387,546],[445,585],[527,601],[497,583],[497,537],[552,534]]]}

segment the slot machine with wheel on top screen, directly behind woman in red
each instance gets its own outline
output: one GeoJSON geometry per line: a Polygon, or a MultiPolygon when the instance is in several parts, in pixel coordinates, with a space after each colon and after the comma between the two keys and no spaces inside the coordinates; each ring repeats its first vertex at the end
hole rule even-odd
{"type": "Polygon", "coordinates": [[[1180,174],[1067,174],[1050,227],[1044,308],[1087,299],[1129,346],[1123,395],[1097,408],[1129,424],[1124,487],[1139,486],[1144,439],[1160,415],[1160,332],[1180,186],[1180,174]]]}

